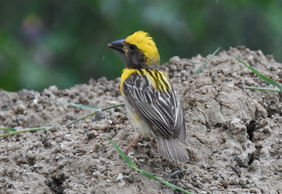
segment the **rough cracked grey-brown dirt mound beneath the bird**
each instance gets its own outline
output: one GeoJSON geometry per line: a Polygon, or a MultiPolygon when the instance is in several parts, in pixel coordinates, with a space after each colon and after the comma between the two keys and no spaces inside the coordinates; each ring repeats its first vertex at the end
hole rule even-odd
{"type": "MultiPolygon", "coordinates": [[[[244,47],[230,52],[281,84],[282,65],[272,56],[244,47]]],[[[206,59],[173,57],[161,67],[186,113],[189,164],[169,164],[148,137],[130,149],[129,157],[162,179],[193,166],[170,180],[192,193],[282,193],[281,94],[244,89],[272,86],[226,51],[190,78],[206,59]]],[[[0,90],[0,127],[64,125],[92,112],[44,97],[100,108],[122,103],[119,81],[101,78],[41,93],[0,90]]],[[[0,193],[179,193],[126,166],[106,136],[121,148],[134,139],[124,107],[68,127],[0,138],[0,193]]]]}

